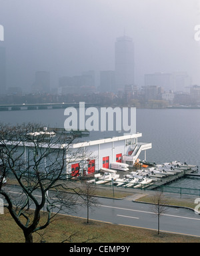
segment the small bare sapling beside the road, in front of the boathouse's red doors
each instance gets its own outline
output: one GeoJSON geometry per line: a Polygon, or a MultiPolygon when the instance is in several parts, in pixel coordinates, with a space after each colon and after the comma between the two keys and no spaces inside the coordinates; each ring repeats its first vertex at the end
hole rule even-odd
{"type": "Polygon", "coordinates": [[[83,198],[83,205],[87,207],[87,223],[89,223],[89,209],[93,211],[98,206],[99,201],[95,197],[96,185],[87,182],[86,179],[82,181],[81,193],[83,198]]]}

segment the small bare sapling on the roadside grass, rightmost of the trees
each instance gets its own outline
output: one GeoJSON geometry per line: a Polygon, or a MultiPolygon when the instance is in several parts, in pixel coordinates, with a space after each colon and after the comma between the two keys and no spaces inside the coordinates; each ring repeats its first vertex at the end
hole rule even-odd
{"type": "Polygon", "coordinates": [[[152,208],[157,215],[157,234],[160,233],[160,217],[167,211],[167,199],[163,195],[163,192],[158,191],[151,197],[151,202],[153,203],[152,208]]]}

